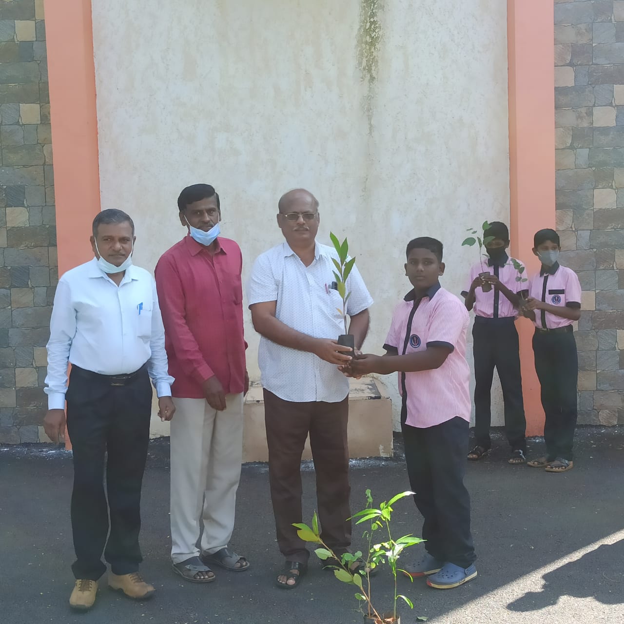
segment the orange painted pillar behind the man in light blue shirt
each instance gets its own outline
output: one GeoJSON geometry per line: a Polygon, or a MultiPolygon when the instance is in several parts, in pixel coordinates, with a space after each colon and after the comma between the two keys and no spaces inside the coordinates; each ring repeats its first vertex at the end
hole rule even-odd
{"type": "Polygon", "coordinates": [[[45,0],[44,12],[61,276],[93,257],[89,236],[100,211],[91,2],[45,0]]]}

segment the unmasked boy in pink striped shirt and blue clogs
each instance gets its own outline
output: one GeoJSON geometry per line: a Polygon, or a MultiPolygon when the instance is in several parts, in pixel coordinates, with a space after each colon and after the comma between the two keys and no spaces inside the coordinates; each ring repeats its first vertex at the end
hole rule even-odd
{"type": "Polygon", "coordinates": [[[351,374],[399,373],[407,474],[424,517],[426,554],[406,566],[439,589],[477,576],[464,485],[470,425],[470,369],[464,304],[440,286],[442,243],[422,236],[407,245],[405,273],[414,288],[397,305],[385,356],[351,361],[351,374]]]}

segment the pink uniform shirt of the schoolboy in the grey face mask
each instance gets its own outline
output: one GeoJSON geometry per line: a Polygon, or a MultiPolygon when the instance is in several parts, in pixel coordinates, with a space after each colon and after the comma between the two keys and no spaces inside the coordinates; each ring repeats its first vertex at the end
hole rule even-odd
{"type": "MultiPolygon", "coordinates": [[[[581,284],[578,275],[567,266],[555,262],[542,270],[529,281],[529,295],[552,306],[580,308],[581,284]]],[[[557,329],[571,325],[569,318],[562,318],[544,310],[535,310],[535,327],[557,329]]]]}

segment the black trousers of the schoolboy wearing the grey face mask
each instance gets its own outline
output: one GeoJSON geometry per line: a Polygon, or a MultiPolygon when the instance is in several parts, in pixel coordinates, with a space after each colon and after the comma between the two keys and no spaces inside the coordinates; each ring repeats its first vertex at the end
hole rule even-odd
{"type": "Polygon", "coordinates": [[[578,354],[574,334],[572,331],[536,331],[533,352],[535,371],[542,387],[542,407],[546,414],[546,456],[549,460],[555,457],[572,460],[578,416],[578,354]]]}

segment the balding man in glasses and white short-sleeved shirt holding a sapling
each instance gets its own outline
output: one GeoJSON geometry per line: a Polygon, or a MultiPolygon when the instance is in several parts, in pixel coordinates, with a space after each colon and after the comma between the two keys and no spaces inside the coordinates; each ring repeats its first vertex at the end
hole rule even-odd
{"type": "MultiPolygon", "coordinates": [[[[318,514],[324,542],[336,554],[351,545],[347,421],[349,382],[339,371],[351,359],[336,338],[344,332],[332,288],[338,254],[316,243],[318,201],[301,188],[281,197],[277,215],[285,243],[258,256],[247,298],[253,326],[261,334],[258,363],[264,389],[271,502],[278,545],[286,559],[278,587],[295,588],[308,568],[306,550],[293,523],[301,522],[301,454],[306,437],[316,470],[318,514]],[[342,353],[341,353],[342,352],[342,353]]],[[[349,333],[360,349],[373,303],[354,266],[349,333]]],[[[354,567],[363,562],[354,563],[354,567]]]]}

